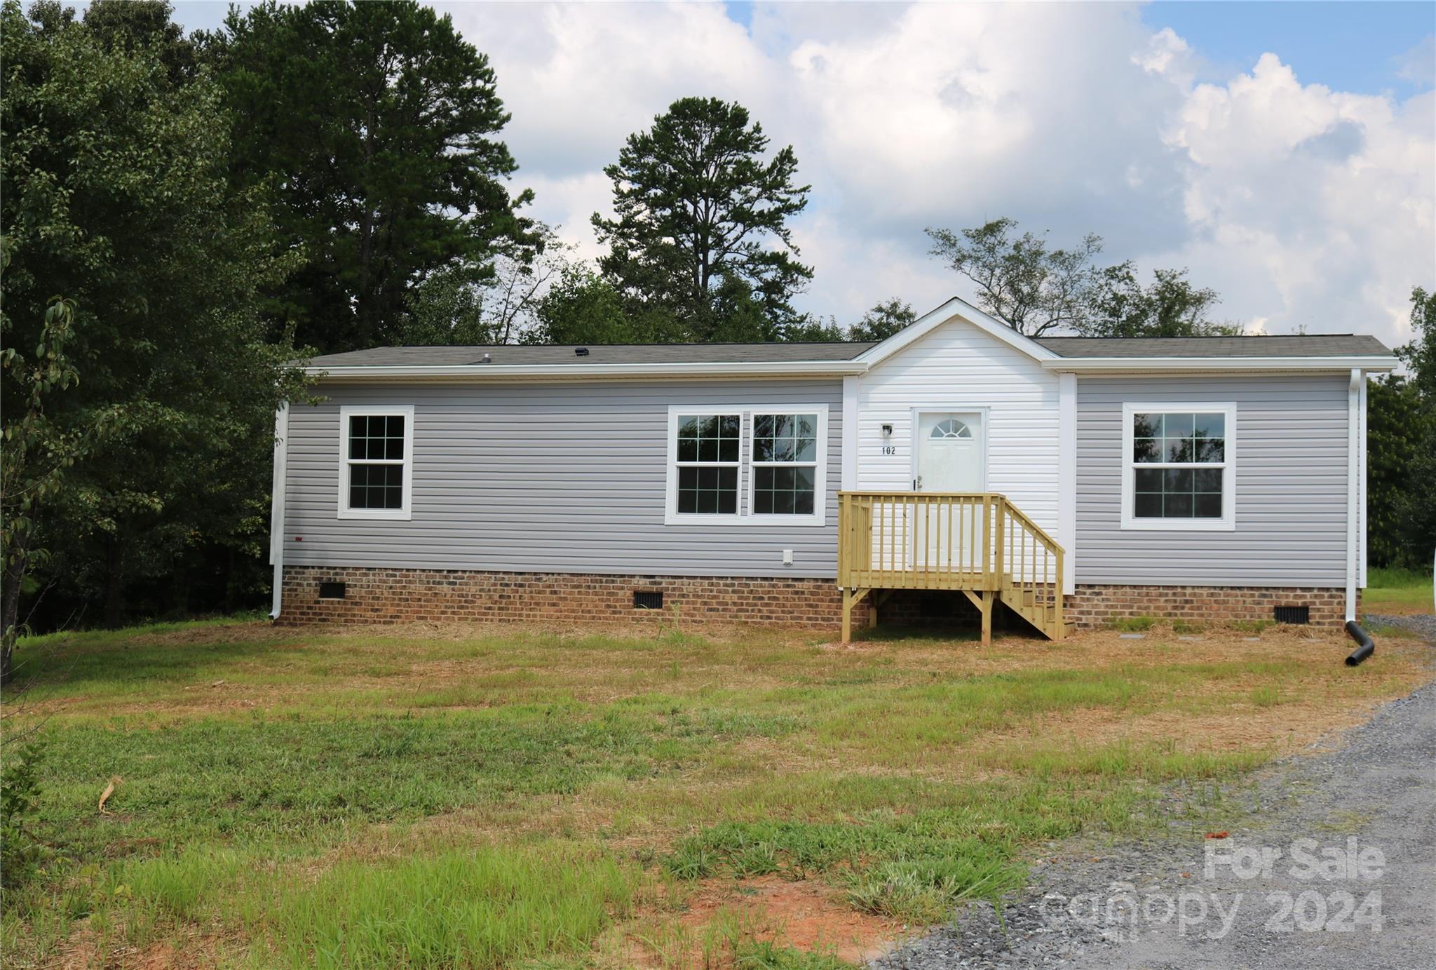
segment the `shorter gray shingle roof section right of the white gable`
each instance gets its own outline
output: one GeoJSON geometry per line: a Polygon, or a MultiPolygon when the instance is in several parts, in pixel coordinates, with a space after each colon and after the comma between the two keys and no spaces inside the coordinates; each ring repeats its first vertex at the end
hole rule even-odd
{"type": "Polygon", "coordinates": [[[1300,336],[1043,336],[1058,356],[1361,356],[1390,351],[1374,336],[1310,333],[1300,336]]]}

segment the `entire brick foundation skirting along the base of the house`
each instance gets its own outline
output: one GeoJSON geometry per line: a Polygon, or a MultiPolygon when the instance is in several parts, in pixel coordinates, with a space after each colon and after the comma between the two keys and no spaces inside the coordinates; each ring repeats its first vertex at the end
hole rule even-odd
{"type": "MultiPolygon", "coordinates": [[[[833,581],[820,578],[286,566],[279,622],[632,621],[672,619],[676,615],[682,621],[837,629],[841,602],[841,591],[833,581]],[[322,599],[322,582],[345,583],[345,598],[322,599]],[[635,609],[635,591],[662,592],[663,609],[635,609]]],[[[1346,618],[1346,591],[1078,585],[1077,592],[1064,599],[1067,619],[1087,628],[1103,627],[1122,616],[1193,622],[1272,619],[1275,606],[1308,606],[1313,625],[1340,627],[1346,618]]],[[[959,592],[896,591],[879,614],[883,622],[896,625],[976,624],[976,611],[959,592]]],[[[864,601],[853,611],[853,624],[862,628],[866,622],[864,601]]],[[[1025,629],[1017,618],[1007,618],[1007,622],[999,622],[1002,625],[1025,629]]]]}

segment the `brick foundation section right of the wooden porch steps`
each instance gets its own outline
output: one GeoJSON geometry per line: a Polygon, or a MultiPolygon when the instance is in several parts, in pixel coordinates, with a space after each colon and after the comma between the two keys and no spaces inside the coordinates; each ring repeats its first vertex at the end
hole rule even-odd
{"type": "MultiPolygon", "coordinates": [[[[1360,606],[1360,595],[1357,599],[1360,606]]],[[[1096,586],[1077,585],[1063,614],[1078,627],[1120,616],[1223,622],[1272,619],[1277,606],[1307,606],[1313,627],[1346,622],[1346,589],[1311,586],[1096,586]]]]}

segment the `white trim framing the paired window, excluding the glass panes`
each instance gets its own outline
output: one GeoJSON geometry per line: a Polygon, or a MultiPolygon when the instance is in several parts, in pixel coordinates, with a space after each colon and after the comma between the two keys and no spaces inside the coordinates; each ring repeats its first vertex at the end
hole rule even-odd
{"type": "MultiPolygon", "coordinates": [[[[668,408],[668,471],[663,497],[663,525],[722,525],[722,526],[821,526],[827,520],[827,405],[826,404],[673,404],[668,408]],[[681,513],[678,512],[678,415],[708,417],[740,415],[738,437],[738,512],[681,513]],[[817,463],[813,474],[811,514],[754,514],[752,513],[752,415],[754,414],[816,414],[817,463]]],[[[705,463],[711,464],[711,463],[705,463]]],[[[770,464],[770,463],[764,463],[770,464]]],[[[790,464],[790,463],[773,463],[790,464]]]]}

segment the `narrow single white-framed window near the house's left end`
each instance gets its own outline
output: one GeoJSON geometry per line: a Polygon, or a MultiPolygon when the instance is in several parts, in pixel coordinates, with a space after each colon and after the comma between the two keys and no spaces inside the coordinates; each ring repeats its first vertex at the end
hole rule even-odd
{"type": "Polygon", "coordinates": [[[339,517],[409,519],[412,407],[339,410],[339,517]]]}

